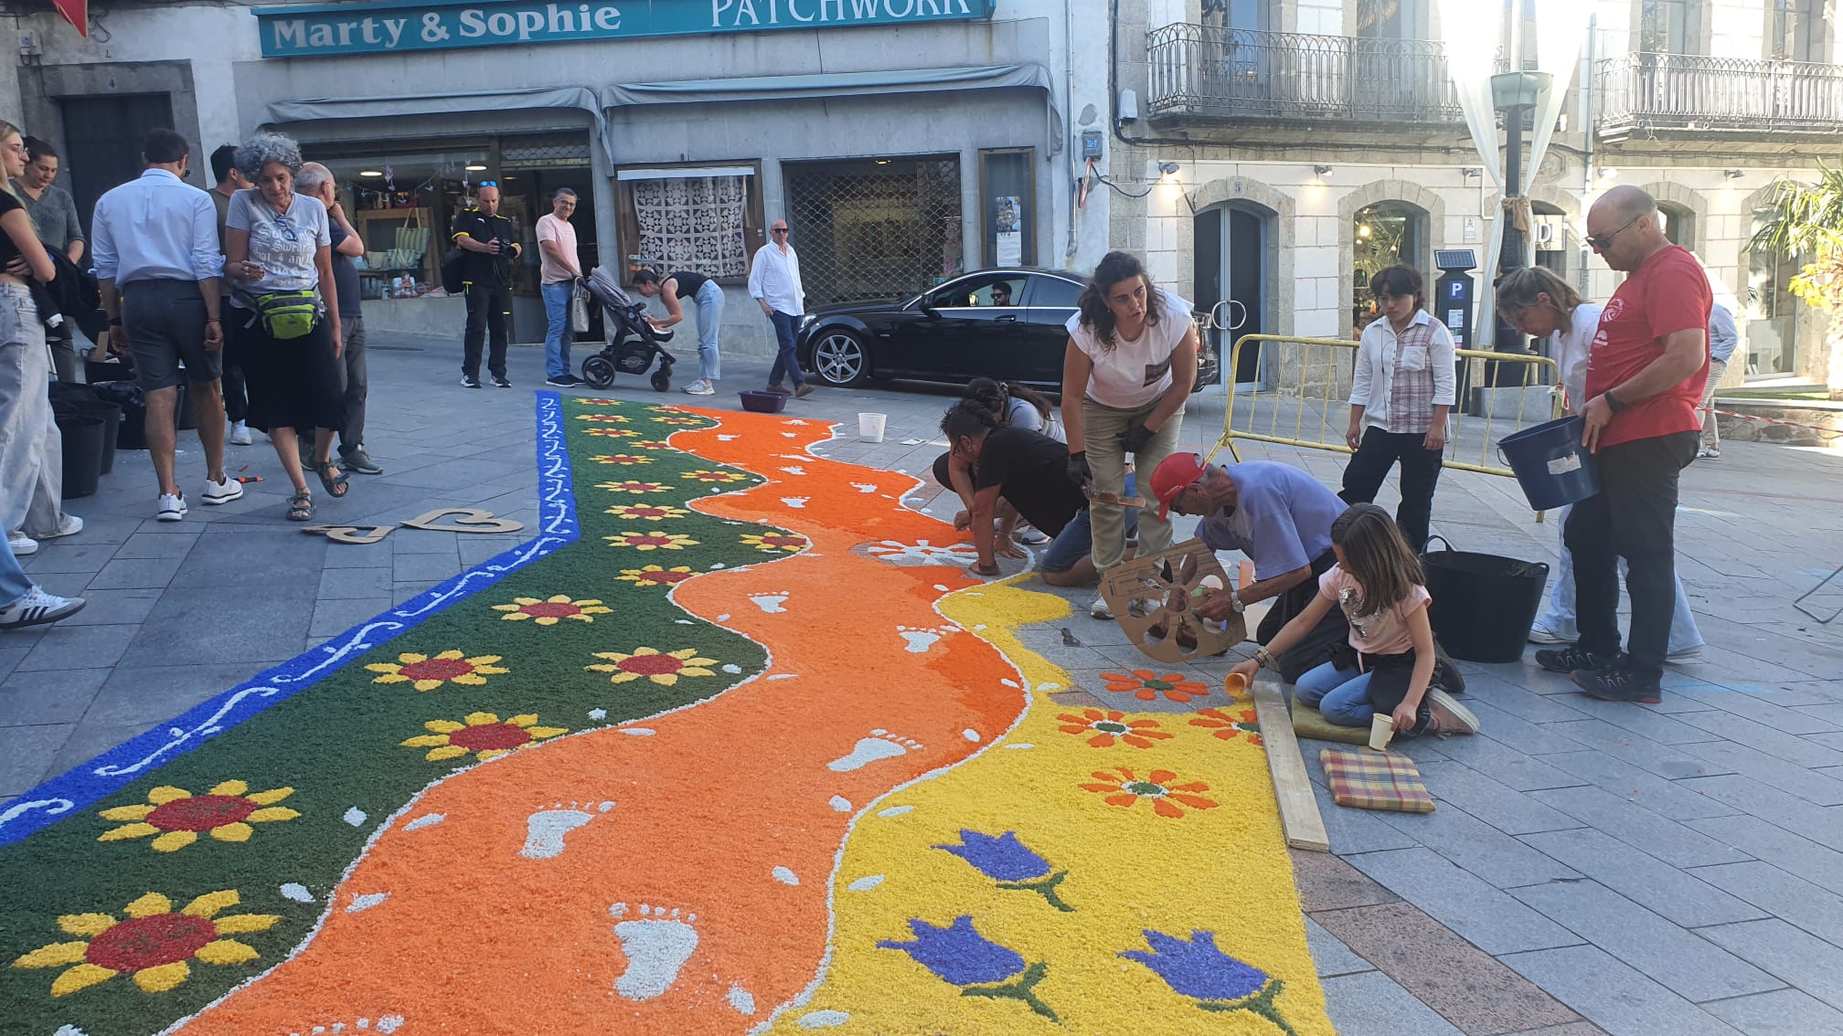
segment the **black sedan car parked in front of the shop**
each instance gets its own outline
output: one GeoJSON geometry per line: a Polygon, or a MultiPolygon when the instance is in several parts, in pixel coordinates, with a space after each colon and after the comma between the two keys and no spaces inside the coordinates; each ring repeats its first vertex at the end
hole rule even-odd
{"type": "MultiPolygon", "coordinates": [[[[1060,389],[1084,284],[1060,269],[982,269],[903,300],[818,306],[800,324],[800,365],[835,387],[999,378],[1060,389]]],[[[1198,385],[1213,380],[1203,363],[1198,385]]]]}

